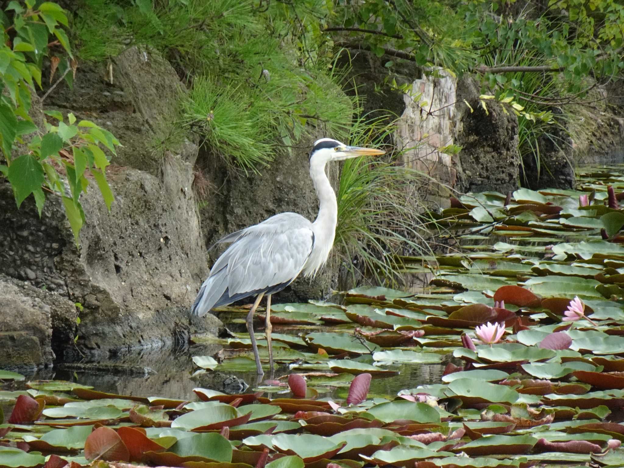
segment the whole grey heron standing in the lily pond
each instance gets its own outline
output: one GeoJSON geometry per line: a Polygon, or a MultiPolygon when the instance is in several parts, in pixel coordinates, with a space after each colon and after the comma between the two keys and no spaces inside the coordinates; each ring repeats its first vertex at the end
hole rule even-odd
{"type": "Polygon", "coordinates": [[[280,213],[218,241],[232,244],[212,266],[210,275],[195,298],[191,313],[201,317],[215,307],[256,296],[246,324],[258,375],[264,374],[253,334],[253,314],[258,304],[266,296],[265,333],[273,372],[271,295],[290,285],[300,273],[314,276],[327,261],[334,243],[338,203],[325,173],[325,165],[331,161],[381,154],[384,151],[348,146],[330,138],[316,140],[310,152],[310,177],[319,199],[316,220],[310,222],[297,213],[280,213]]]}

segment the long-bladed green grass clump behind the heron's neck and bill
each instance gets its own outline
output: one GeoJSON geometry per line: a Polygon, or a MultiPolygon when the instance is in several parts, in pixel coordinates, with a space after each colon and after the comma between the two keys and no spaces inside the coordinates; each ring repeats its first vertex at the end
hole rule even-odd
{"type": "MultiPolygon", "coordinates": [[[[389,115],[373,121],[365,116],[354,124],[351,144],[380,145],[394,131],[389,115]]],[[[401,257],[427,249],[419,213],[421,172],[399,163],[400,153],[383,160],[354,158],[344,162],[338,198],[336,246],[354,276],[371,283],[402,283],[401,257]],[[358,265],[353,262],[358,258],[358,265]],[[361,275],[356,268],[359,268],[361,275]]]]}

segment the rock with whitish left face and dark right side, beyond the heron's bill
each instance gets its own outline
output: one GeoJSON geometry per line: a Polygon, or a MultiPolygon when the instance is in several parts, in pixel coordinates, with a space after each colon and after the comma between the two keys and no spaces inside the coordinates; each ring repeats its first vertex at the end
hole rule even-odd
{"type": "MultiPolygon", "coordinates": [[[[488,102],[486,114],[479,95],[470,76],[457,82],[436,70],[414,80],[404,95],[406,109],[394,134],[396,144],[409,149],[402,155],[407,164],[460,192],[515,190],[520,163],[517,119],[498,102],[488,102]],[[451,145],[462,149],[453,154],[451,145]]],[[[427,191],[442,198],[451,194],[436,183],[429,183],[427,191]]]]}

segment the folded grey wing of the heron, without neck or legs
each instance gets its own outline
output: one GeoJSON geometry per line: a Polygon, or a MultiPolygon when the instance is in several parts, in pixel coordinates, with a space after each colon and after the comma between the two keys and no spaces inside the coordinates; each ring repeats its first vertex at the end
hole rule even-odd
{"type": "Polygon", "coordinates": [[[245,293],[287,285],[301,272],[313,245],[312,223],[296,213],[281,213],[265,222],[232,233],[222,241],[233,243],[210,270],[193,303],[200,316],[217,303],[243,298],[245,293]],[[224,299],[225,295],[225,299],[224,299]]]}

